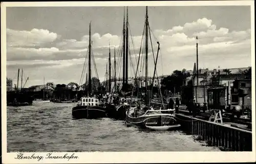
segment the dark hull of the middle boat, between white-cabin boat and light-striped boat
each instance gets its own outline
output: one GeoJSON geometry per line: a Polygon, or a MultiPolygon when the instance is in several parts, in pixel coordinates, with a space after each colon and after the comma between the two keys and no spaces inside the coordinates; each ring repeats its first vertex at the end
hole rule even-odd
{"type": "Polygon", "coordinates": [[[129,106],[127,105],[114,105],[114,104],[109,104],[108,105],[108,110],[107,115],[109,118],[117,119],[117,120],[125,120],[125,112],[126,109],[129,106]]]}

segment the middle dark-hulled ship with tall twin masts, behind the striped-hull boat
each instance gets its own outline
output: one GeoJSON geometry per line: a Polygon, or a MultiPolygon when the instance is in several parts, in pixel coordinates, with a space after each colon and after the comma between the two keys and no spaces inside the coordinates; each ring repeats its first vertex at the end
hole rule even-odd
{"type": "MultiPolygon", "coordinates": [[[[123,15],[123,41],[122,41],[122,88],[121,92],[117,89],[116,84],[116,51],[114,56],[114,88],[111,90],[111,52],[109,53],[109,99],[106,105],[108,106],[108,116],[110,118],[125,120],[125,112],[130,107],[131,99],[129,98],[128,86],[128,65],[129,65],[129,21],[128,21],[128,7],[126,7],[126,21],[125,21],[125,7],[123,15]]],[[[121,52],[121,51],[120,51],[121,52]]],[[[120,55],[121,57],[121,55],[120,55]]],[[[120,60],[121,61],[121,60],[120,60]]],[[[132,62],[132,61],[131,61],[132,62]]]]}

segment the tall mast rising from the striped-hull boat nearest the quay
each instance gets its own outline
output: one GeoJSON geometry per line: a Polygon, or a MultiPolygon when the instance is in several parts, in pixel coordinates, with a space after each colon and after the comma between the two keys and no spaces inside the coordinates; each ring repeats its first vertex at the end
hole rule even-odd
{"type": "Polygon", "coordinates": [[[146,6],[146,31],[145,31],[145,39],[146,39],[146,43],[145,43],[145,86],[146,86],[146,105],[148,105],[148,92],[147,92],[147,53],[148,53],[148,42],[147,42],[147,37],[148,37],[148,16],[147,16],[147,6],[146,6]]]}

